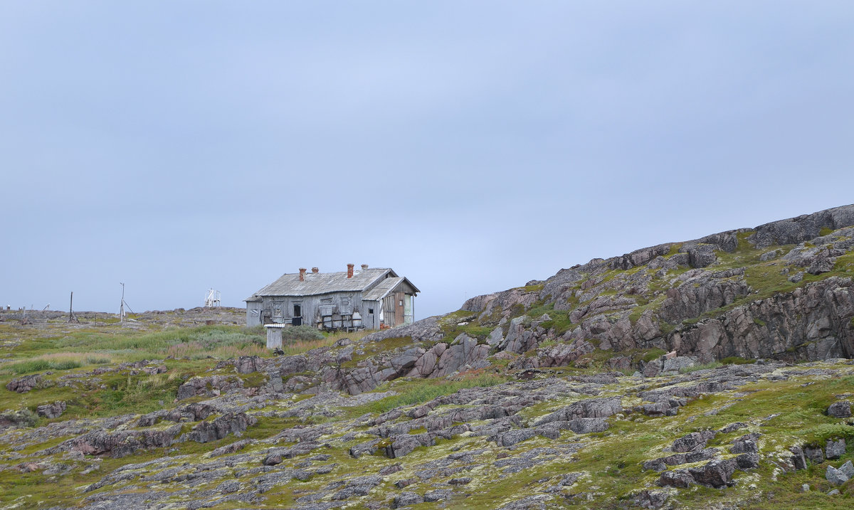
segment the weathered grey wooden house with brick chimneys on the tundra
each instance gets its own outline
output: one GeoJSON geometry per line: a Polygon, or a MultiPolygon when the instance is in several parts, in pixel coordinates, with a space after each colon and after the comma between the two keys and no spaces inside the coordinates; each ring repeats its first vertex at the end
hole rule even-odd
{"type": "Polygon", "coordinates": [[[321,273],[300,269],[246,298],[246,324],[307,324],[319,329],[365,327],[380,329],[411,324],[414,298],[420,291],[393,269],[321,273]]]}

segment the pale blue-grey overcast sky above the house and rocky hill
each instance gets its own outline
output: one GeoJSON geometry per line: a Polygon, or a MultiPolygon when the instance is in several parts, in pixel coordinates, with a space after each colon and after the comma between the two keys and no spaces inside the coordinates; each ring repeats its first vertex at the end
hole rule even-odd
{"type": "Polygon", "coordinates": [[[417,318],[854,202],[854,3],[0,3],[0,303],[243,306],[391,267],[417,318]]]}

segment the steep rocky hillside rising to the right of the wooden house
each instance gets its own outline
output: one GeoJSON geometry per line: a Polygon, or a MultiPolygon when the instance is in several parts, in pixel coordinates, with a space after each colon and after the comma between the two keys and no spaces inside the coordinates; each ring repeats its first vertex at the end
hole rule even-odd
{"type": "Polygon", "coordinates": [[[371,339],[466,333],[519,367],[603,360],[642,368],[653,349],[816,361],[854,353],[854,206],[594,258],[546,281],[471,298],[458,312],[371,339]]]}

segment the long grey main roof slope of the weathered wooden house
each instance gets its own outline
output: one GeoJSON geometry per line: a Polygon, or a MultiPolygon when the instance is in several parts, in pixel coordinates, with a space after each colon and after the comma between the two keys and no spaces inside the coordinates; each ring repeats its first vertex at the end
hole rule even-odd
{"type": "Polygon", "coordinates": [[[353,277],[347,277],[347,271],[337,273],[306,273],[300,281],[299,273],[287,273],[277,281],[261,288],[245,301],[254,301],[259,296],[314,296],[317,294],[360,292],[371,288],[386,275],[396,278],[395,271],[389,268],[371,268],[353,271],[353,277]]]}

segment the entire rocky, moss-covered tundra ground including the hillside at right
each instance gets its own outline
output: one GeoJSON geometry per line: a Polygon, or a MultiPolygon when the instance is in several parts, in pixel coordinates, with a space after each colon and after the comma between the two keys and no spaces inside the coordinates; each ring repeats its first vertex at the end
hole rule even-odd
{"type": "Polygon", "coordinates": [[[561,269],[365,335],[0,313],[0,507],[832,508],[854,207],[561,269]]]}

